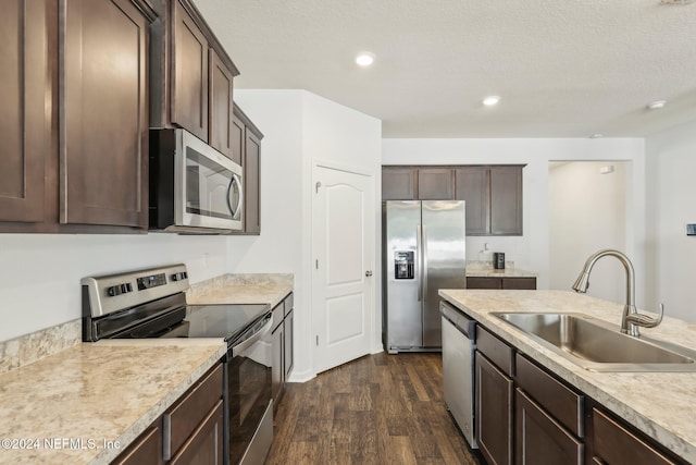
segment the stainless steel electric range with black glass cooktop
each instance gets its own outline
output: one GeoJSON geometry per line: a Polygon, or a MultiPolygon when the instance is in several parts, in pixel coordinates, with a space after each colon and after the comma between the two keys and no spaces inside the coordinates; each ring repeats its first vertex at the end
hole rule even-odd
{"type": "Polygon", "coordinates": [[[82,289],[86,342],[224,339],[223,463],[263,463],[273,441],[270,305],[187,305],[185,265],[84,278],[82,289]]]}

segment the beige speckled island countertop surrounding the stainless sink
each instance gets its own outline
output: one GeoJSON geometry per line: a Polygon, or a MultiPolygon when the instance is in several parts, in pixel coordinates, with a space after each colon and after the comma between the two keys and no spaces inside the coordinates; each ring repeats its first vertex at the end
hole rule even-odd
{"type": "MultiPolygon", "coordinates": [[[[623,305],[569,291],[440,290],[439,295],[668,450],[696,463],[696,372],[588,371],[489,315],[579,311],[609,321],[619,330],[623,305]]],[[[696,350],[696,323],[664,317],[657,328],[642,328],[641,332],[696,350]]]]}

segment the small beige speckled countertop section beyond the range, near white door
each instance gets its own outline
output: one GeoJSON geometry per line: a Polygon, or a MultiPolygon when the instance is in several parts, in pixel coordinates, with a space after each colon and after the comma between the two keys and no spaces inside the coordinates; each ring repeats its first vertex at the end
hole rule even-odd
{"type": "Polygon", "coordinates": [[[223,274],[192,284],[186,302],[202,304],[271,304],[275,307],[295,285],[293,274],[223,274]]]}

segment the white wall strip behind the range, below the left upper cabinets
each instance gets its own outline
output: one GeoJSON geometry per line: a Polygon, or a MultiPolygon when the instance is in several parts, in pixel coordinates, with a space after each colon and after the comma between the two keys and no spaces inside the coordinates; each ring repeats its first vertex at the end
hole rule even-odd
{"type": "Polygon", "coordinates": [[[85,277],[185,262],[191,282],[226,269],[226,238],[176,234],[0,234],[0,341],[82,317],[85,277]]]}

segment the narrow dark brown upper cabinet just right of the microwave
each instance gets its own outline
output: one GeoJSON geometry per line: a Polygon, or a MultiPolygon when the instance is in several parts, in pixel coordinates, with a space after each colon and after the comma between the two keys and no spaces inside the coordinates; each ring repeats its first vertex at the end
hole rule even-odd
{"type": "Polygon", "coordinates": [[[261,139],[263,134],[237,106],[234,106],[233,160],[244,168],[244,231],[261,233],[261,139]]]}

